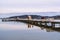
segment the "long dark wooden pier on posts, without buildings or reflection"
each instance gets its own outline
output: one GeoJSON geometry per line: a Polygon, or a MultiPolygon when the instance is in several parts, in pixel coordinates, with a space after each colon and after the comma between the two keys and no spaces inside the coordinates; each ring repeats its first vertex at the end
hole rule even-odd
{"type": "Polygon", "coordinates": [[[50,20],[42,20],[42,19],[3,19],[2,21],[19,21],[24,23],[30,23],[34,25],[51,27],[51,28],[60,28],[59,21],[50,21],[50,20]],[[56,25],[58,24],[58,27],[56,25]]]}

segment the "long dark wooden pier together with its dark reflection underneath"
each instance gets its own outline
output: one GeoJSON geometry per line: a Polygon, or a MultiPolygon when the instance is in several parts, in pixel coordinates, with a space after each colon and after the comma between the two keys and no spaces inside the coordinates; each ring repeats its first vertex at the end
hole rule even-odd
{"type": "Polygon", "coordinates": [[[27,24],[32,24],[38,27],[44,27],[60,32],[60,21],[55,20],[45,20],[45,19],[2,19],[2,21],[17,21],[27,24]],[[58,27],[57,27],[57,26],[58,27]]]}

